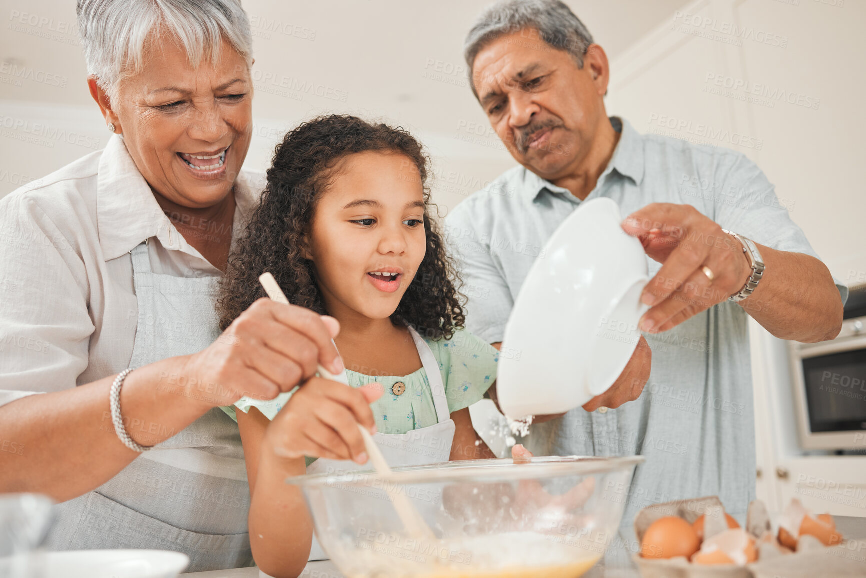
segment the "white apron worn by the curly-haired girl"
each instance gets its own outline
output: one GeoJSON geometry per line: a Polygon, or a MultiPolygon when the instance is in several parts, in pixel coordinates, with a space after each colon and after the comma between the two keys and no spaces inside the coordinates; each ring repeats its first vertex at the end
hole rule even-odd
{"type": "MultiPolygon", "coordinates": [[[[382,451],[382,455],[392,467],[404,465],[427,465],[447,462],[451,455],[451,444],[454,441],[454,420],[448,411],[448,399],[445,397],[445,386],[442,374],[439,373],[439,362],[433,356],[430,346],[421,339],[417,331],[409,328],[412,340],[418,350],[418,356],[427,373],[430,383],[430,393],[433,396],[433,406],[436,408],[436,425],[422,427],[403,435],[377,433],[373,441],[382,451]],[[417,451],[417,448],[423,451],[417,451]],[[415,451],[413,451],[413,449],[415,451]]],[[[307,474],[333,473],[339,474],[347,471],[370,470],[372,464],[355,464],[350,460],[317,459],[307,467],[307,474]]],[[[313,548],[310,550],[309,560],[327,560],[325,551],[321,548],[316,536],[313,536],[313,548]]]]}

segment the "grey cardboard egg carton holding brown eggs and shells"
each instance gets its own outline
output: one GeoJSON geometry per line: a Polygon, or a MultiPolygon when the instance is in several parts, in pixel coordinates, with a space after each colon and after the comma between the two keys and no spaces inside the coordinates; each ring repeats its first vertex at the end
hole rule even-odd
{"type": "MultiPolygon", "coordinates": [[[[727,529],[725,509],[717,496],[698,497],[690,500],[656,503],[635,516],[637,542],[643,543],[643,534],[659,518],[678,516],[688,523],[695,523],[706,515],[704,538],[715,536],[727,529]]],[[[643,578],[854,578],[866,576],[866,541],[843,540],[833,547],[826,547],[812,536],[801,536],[798,551],[781,554],[772,544],[760,544],[768,532],[772,536],[778,529],[772,526],[763,502],[755,500],[749,504],[746,515],[746,532],[759,542],[757,562],[745,566],[719,565],[701,566],[685,558],[655,560],[633,555],[643,578]]]]}

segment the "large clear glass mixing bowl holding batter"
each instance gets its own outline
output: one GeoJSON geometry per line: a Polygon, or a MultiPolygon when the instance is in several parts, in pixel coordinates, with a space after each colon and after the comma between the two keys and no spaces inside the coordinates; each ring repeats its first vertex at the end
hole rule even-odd
{"type": "Polygon", "coordinates": [[[576,578],[617,536],[628,458],[486,459],[375,472],[291,477],[316,536],[347,578],[576,578]],[[408,498],[431,534],[406,529],[408,498]]]}

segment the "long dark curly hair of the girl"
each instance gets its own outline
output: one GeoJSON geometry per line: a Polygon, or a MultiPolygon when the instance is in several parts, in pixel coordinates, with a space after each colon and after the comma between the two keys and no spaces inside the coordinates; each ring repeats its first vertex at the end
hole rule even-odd
{"type": "Polygon", "coordinates": [[[216,310],[221,329],[265,296],[258,278],[270,271],[288,301],[326,315],[313,262],[302,256],[316,200],[329,185],[339,161],[352,153],[383,151],[409,158],[421,175],[426,253],[397,309],[395,325],[409,324],[427,337],[450,339],[465,322],[465,298],[443,238],[428,214],[426,186],[430,159],[403,127],[371,124],[348,114],[320,116],[286,133],[276,146],[268,184],[244,235],[229,256],[220,280],[216,310]]]}

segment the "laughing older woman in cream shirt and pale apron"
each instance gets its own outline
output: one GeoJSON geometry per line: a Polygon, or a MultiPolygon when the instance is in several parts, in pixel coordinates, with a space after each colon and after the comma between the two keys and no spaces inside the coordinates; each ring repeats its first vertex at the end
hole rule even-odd
{"type": "Polygon", "coordinates": [[[0,201],[0,439],[20,449],[0,451],[0,492],[61,502],[50,549],[249,565],[240,438],[216,407],[341,367],[336,322],[307,309],[260,300],[217,328],[216,282],[260,192],[241,170],[248,19],[238,0],[77,10],[114,136],[0,201]]]}

